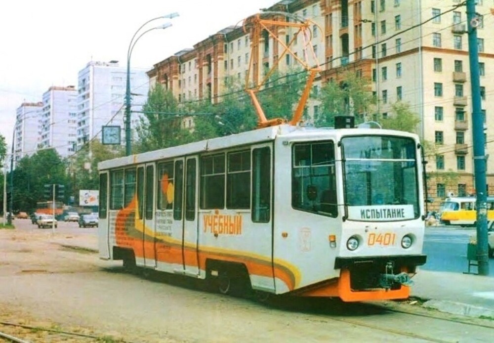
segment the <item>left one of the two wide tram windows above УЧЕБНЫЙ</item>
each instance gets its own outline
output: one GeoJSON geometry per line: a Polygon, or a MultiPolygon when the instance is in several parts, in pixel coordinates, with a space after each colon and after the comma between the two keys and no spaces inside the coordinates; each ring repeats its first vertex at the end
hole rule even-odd
{"type": "Polygon", "coordinates": [[[225,154],[201,159],[201,209],[225,207],[225,154]]]}

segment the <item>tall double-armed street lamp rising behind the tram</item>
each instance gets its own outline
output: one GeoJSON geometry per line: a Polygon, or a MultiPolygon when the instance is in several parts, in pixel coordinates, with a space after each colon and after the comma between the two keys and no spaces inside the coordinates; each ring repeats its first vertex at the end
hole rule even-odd
{"type": "Polygon", "coordinates": [[[149,31],[156,30],[156,29],[166,29],[166,28],[171,26],[171,23],[168,22],[168,23],[165,23],[164,25],[151,28],[151,29],[146,30],[143,33],[141,33],[137,38],[135,38],[135,37],[137,36],[139,31],[146,24],[148,24],[154,20],[157,20],[157,19],[163,19],[163,18],[171,19],[174,17],[178,17],[177,12],[173,12],[170,14],[166,14],[166,15],[148,20],[147,22],[142,24],[139,29],[137,29],[137,31],[132,36],[130,43],[128,44],[128,49],[127,49],[127,83],[126,83],[126,87],[125,87],[125,155],[126,156],[129,156],[131,154],[131,150],[132,150],[131,146],[130,146],[130,144],[131,144],[130,143],[130,105],[131,105],[130,104],[130,55],[132,54],[132,50],[134,48],[135,43],[137,43],[139,38],[141,38],[144,34],[148,33],[149,31]]]}

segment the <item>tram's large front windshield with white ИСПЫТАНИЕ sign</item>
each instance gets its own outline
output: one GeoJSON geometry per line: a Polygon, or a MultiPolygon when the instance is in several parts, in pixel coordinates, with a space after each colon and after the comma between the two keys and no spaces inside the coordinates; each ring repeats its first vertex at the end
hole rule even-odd
{"type": "Polygon", "coordinates": [[[353,136],[341,140],[348,219],[405,220],[419,215],[412,138],[353,136]]]}

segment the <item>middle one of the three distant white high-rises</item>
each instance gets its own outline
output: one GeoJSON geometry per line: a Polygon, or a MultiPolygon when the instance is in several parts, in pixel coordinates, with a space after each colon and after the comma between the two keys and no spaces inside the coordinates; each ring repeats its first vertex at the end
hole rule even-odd
{"type": "Polygon", "coordinates": [[[43,93],[38,149],[54,148],[62,158],[74,152],[76,100],[75,86],[51,86],[43,93]]]}

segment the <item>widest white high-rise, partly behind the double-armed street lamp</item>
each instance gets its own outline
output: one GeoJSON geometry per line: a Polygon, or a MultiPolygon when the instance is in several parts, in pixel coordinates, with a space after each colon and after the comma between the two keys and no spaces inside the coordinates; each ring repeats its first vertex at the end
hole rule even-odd
{"type": "MultiPolygon", "coordinates": [[[[146,70],[130,69],[131,111],[141,111],[147,101],[150,86],[146,70]]],[[[101,140],[101,128],[120,126],[124,137],[125,88],[127,68],[118,61],[90,61],[79,71],[77,91],[77,149],[97,137],[101,140]]],[[[134,132],[140,113],[131,113],[131,129],[134,132]]],[[[124,140],[123,142],[124,143],[124,140]]]]}

